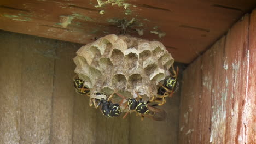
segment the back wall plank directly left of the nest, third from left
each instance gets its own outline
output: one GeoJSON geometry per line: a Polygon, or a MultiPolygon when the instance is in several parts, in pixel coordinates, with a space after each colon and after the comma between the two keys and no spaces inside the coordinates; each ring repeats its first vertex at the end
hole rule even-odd
{"type": "Polygon", "coordinates": [[[50,141],[55,144],[71,144],[75,97],[72,80],[75,64],[72,58],[81,45],[55,41],[53,46],[56,48],[56,57],[50,141]]]}

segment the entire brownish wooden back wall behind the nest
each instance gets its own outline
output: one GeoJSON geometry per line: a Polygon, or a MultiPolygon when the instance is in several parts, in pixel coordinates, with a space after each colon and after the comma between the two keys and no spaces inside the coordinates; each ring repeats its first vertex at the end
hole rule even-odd
{"type": "Polygon", "coordinates": [[[0,31],[0,143],[177,143],[179,94],[164,122],[106,118],[74,92],[82,45],[0,31]]]}

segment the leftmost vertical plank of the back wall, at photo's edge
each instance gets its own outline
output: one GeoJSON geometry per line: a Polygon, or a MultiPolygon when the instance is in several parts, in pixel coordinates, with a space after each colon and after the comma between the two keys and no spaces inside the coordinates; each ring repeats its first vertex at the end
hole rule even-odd
{"type": "Polygon", "coordinates": [[[18,34],[10,32],[0,31],[0,37],[0,143],[19,143],[21,41],[18,34]]]}

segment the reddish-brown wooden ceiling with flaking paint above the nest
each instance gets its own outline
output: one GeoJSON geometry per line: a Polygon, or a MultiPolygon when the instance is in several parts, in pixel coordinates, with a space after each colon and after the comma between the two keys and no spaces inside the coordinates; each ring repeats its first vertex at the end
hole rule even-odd
{"type": "Polygon", "coordinates": [[[120,34],[120,22],[127,21],[132,23],[127,34],[161,41],[176,61],[190,63],[255,5],[255,0],[1,0],[0,29],[88,44],[120,34]]]}

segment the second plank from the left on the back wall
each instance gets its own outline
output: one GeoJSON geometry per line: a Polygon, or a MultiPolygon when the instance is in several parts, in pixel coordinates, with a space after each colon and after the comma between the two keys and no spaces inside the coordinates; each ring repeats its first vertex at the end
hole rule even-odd
{"type": "MultiPolygon", "coordinates": [[[[49,143],[54,47],[49,39],[22,35],[20,143],[49,143]]],[[[18,49],[18,47],[16,47],[18,49]]]]}

